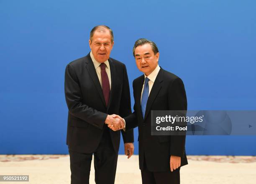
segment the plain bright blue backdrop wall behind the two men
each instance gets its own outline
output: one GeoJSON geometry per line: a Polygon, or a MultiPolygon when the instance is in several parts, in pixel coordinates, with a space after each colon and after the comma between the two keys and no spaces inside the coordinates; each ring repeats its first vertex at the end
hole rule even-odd
{"type": "MultiPolygon", "coordinates": [[[[64,70],[87,55],[100,24],[113,29],[111,57],[127,66],[131,88],[141,75],[132,47],[146,37],[159,47],[159,65],[184,81],[188,109],[255,110],[255,8],[254,0],[0,0],[0,154],[68,153],[64,70]]],[[[256,155],[255,142],[188,136],[186,148],[256,155]]]]}

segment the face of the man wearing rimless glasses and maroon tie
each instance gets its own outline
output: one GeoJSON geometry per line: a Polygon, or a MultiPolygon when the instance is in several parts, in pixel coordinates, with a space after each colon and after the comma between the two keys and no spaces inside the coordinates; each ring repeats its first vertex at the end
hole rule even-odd
{"type": "Polygon", "coordinates": [[[89,40],[89,46],[92,50],[92,55],[97,62],[105,62],[110,56],[114,42],[111,43],[111,35],[109,30],[104,32],[95,31],[92,40],[89,40]]]}

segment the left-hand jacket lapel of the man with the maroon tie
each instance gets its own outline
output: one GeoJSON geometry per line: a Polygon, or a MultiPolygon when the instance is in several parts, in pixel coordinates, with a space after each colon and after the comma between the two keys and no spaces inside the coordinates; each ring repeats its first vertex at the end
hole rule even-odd
{"type": "Polygon", "coordinates": [[[92,81],[93,81],[98,93],[100,94],[100,99],[102,100],[102,103],[106,107],[106,102],[105,102],[105,99],[104,99],[104,96],[103,96],[100,81],[99,81],[99,78],[97,76],[95,67],[93,65],[92,58],[90,57],[90,53],[87,55],[86,58],[87,58],[87,60],[85,60],[85,63],[87,63],[86,69],[87,69],[88,73],[90,74],[90,77],[92,78],[92,81]]]}

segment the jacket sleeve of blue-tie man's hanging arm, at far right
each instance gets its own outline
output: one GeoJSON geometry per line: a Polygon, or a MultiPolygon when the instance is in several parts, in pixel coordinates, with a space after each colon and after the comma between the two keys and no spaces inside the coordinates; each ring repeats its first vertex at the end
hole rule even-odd
{"type": "MultiPolygon", "coordinates": [[[[182,110],[187,111],[187,97],[184,88],[184,84],[180,78],[175,79],[168,88],[168,103],[169,110],[182,110]]],[[[184,157],[185,151],[185,139],[184,135],[174,135],[171,138],[170,155],[177,157],[184,157]]]]}

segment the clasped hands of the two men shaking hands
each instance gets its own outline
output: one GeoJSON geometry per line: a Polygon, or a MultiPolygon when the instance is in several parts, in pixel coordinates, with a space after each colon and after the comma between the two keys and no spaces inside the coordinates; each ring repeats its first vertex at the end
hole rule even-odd
{"type": "Polygon", "coordinates": [[[105,124],[108,124],[108,127],[113,131],[123,129],[125,126],[124,119],[116,114],[108,115],[105,124]]]}

